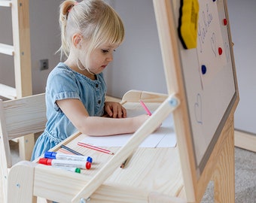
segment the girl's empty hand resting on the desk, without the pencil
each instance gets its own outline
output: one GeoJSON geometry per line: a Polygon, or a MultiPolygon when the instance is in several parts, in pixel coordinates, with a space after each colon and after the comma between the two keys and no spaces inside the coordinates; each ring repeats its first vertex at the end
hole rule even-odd
{"type": "Polygon", "coordinates": [[[105,112],[112,118],[126,118],[126,109],[118,102],[105,102],[105,112]]]}

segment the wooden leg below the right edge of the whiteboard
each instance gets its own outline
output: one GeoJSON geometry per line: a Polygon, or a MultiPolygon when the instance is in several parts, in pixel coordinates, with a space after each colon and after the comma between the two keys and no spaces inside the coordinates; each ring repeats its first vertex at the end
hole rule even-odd
{"type": "Polygon", "coordinates": [[[229,134],[224,141],[224,147],[212,177],[215,183],[215,203],[235,202],[235,161],[232,129],[230,129],[229,134]]]}

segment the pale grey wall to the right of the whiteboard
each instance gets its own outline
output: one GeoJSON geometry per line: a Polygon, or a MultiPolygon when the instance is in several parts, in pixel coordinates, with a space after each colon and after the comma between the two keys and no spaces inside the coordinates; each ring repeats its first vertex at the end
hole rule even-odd
{"type": "Polygon", "coordinates": [[[240,95],[235,128],[256,133],[256,1],[227,3],[240,95]]]}

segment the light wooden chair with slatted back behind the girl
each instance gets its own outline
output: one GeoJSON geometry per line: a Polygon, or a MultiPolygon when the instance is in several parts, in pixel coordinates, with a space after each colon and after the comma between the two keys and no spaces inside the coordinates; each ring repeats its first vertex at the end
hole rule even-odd
{"type": "MultiPolygon", "coordinates": [[[[14,100],[0,99],[0,201],[7,202],[8,171],[13,165],[9,141],[42,132],[46,123],[44,93],[14,100]]],[[[31,143],[34,145],[34,143],[31,143]]]]}

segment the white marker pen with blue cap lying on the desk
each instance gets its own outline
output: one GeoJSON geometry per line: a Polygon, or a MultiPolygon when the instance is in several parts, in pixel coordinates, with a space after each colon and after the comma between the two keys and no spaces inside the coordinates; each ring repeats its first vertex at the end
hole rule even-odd
{"type": "Polygon", "coordinates": [[[64,154],[64,153],[56,153],[56,152],[46,152],[44,153],[44,158],[47,159],[62,159],[62,160],[73,160],[79,162],[93,162],[93,159],[90,156],[81,156],[81,155],[73,155],[73,154],[64,154]]]}

